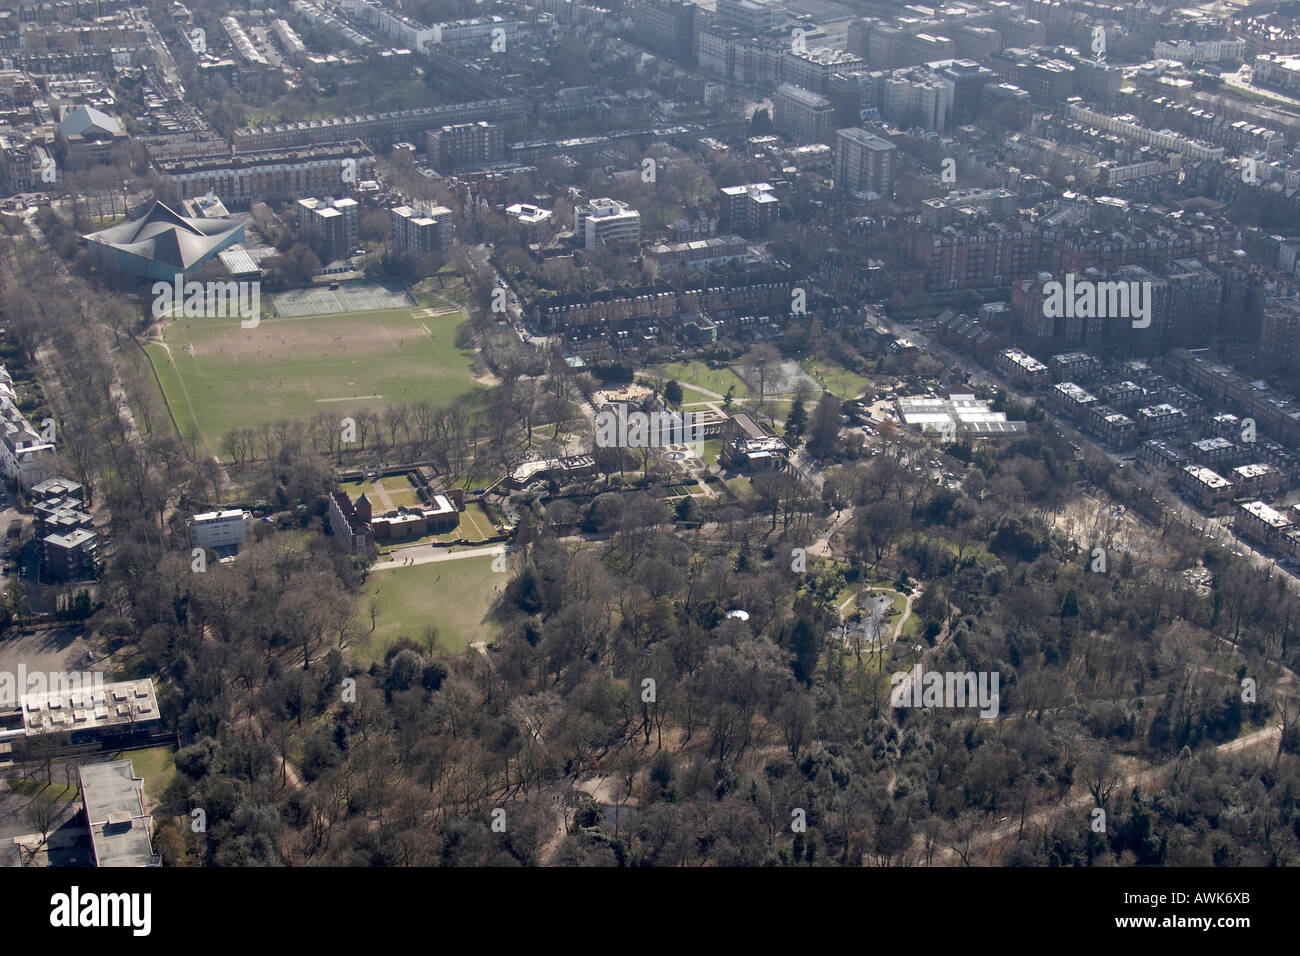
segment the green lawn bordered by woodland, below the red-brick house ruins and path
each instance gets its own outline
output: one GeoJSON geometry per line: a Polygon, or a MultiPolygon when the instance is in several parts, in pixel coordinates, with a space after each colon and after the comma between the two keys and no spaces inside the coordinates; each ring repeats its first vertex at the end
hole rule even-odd
{"type": "Polygon", "coordinates": [[[464,650],[471,641],[491,640],[494,628],[484,623],[507,574],[491,570],[495,558],[462,558],[411,567],[374,571],[359,600],[359,617],[369,626],[370,597],[378,597],[378,618],[368,643],[354,648],[364,661],[378,661],[394,640],[406,635],[420,640],[426,626],[438,628],[438,644],[464,650]]]}

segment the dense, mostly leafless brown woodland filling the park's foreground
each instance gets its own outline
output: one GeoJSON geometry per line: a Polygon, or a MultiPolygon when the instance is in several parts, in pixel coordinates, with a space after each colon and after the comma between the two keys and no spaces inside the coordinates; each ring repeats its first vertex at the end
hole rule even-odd
{"type": "MultiPolygon", "coordinates": [[[[653,475],[581,501],[520,496],[488,645],[452,656],[411,633],[361,669],[365,559],[321,522],[332,464],[287,434],[251,454],[248,488],[309,505],[281,522],[306,540],[283,546],[266,525],[239,561],[194,574],[177,510],[218,476],[133,380],[129,317],[39,255],[13,251],[3,281],[16,354],[57,382],[68,468],[112,518],[87,627],[160,676],[182,739],[157,812],[169,865],[1300,860],[1295,594],[1169,520],[1158,558],[1091,572],[1088,542],[1053,515],[1083,486],[1152,510],[1152,489],[1045,428],[946,449],[956,489],[907,467],[920,451],[887,431],[844,464],[822,442],[822,497],[772,476],[751,502],[673,510],[653,475]],[[792,570],[850,507],[842,559],[792,570]],[[1208,593],[1182,575],[1199,564],[1208,593]],[[868,583],[913,592],[927,667],[1001,675],[997,719],[889,706],[889,675],[918,656],[845,639],[838,606],[868,583]],[[749,619],[725,617],[736,607],[749,619]],[[1214,749],[1278,724],[1280,745],[1214,749]],[[593,779],[598,799],[580,790],[593,779]],[[186,825],[195,808],[207,832],[186,825]]],[[[542,372],[543,388],[562,375],[542,372]]],[[[458,460],[490,444],[493,402],[455,412],[478,423],[458,460]]]]}

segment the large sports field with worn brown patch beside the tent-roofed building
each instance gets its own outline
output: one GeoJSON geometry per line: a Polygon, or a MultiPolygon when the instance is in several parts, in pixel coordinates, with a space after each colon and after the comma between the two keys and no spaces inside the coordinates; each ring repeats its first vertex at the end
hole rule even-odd
{"type": "Polygon", "coordinates": [[[456,346],[464,319],[412,308],[264,317],[255,329],[237,317],[177,319],[146,350],[181,433],[196,424],[220,455],[231,428],[420,398],[447,405],[480,388],[473,352],[456,346]]]}

